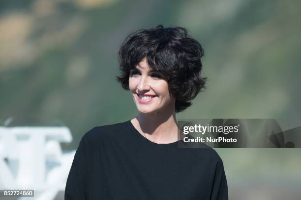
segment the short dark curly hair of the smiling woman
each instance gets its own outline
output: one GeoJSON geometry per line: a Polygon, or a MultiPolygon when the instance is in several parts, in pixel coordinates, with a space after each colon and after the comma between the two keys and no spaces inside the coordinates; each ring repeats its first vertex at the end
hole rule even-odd
{"type": "Polygon", "coordinates": [[[128,35],[120,47],[121,75],[117,80],[123,89],[129,90],[130,70],[146,57],[151,70],[168,77],[169,88],[176,98],[176,112],[181,112],[205,86],[206,78],[201,77],[203,55],[201,44],[188,36],[183,27],[158,25],[140,29],[128,35]]]}

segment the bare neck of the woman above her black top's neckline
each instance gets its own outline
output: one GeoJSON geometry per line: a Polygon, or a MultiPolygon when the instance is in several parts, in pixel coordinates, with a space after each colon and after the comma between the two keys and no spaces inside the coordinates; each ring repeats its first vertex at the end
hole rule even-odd
{"type": "Polygon", "coordinates": [[[131,122],[144,137],[152,142],[168,144],[178,141],[175,112],[139,113],[131,122]]]}

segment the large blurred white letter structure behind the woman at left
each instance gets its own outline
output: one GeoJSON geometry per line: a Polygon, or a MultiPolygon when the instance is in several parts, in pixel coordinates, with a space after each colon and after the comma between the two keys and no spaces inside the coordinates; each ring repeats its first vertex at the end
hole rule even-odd
{"type": "MultiPolygon", "coordinates": [[[[65,189],[75,150],[67,127],[0,126],[0,189],[34,189],[36,200],[53,200],[65,189]]],[[[19,200],[32,198],[19,198],[19,200]]]]}

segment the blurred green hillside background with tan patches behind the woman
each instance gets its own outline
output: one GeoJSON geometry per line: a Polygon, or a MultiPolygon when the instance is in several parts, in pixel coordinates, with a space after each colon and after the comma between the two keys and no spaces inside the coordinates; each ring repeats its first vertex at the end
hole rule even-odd
{"type": "MultiPolygon", "coordinates": [[[[205,49],[207,89],[178,119],[301,125],[300,20],[300,0],[1,0],[0,123],[66,125],[71,150],[92,127],[135,117],[117,52],[130,32],[162,24],[205,49]]],[[[230,200],[301,199],[300,149],[216,150],[230,200]]]]}

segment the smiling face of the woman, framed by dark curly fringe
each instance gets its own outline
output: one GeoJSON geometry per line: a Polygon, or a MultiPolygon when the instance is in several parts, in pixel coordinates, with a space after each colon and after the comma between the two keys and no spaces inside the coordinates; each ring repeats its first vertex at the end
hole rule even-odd
{"type": "Polygon", "coordinates": [[[139,112],[175,111],[175,98],[166,79],[160,72],[150,70],[146,58],[130,71],[128,82],[139,112]]]}

